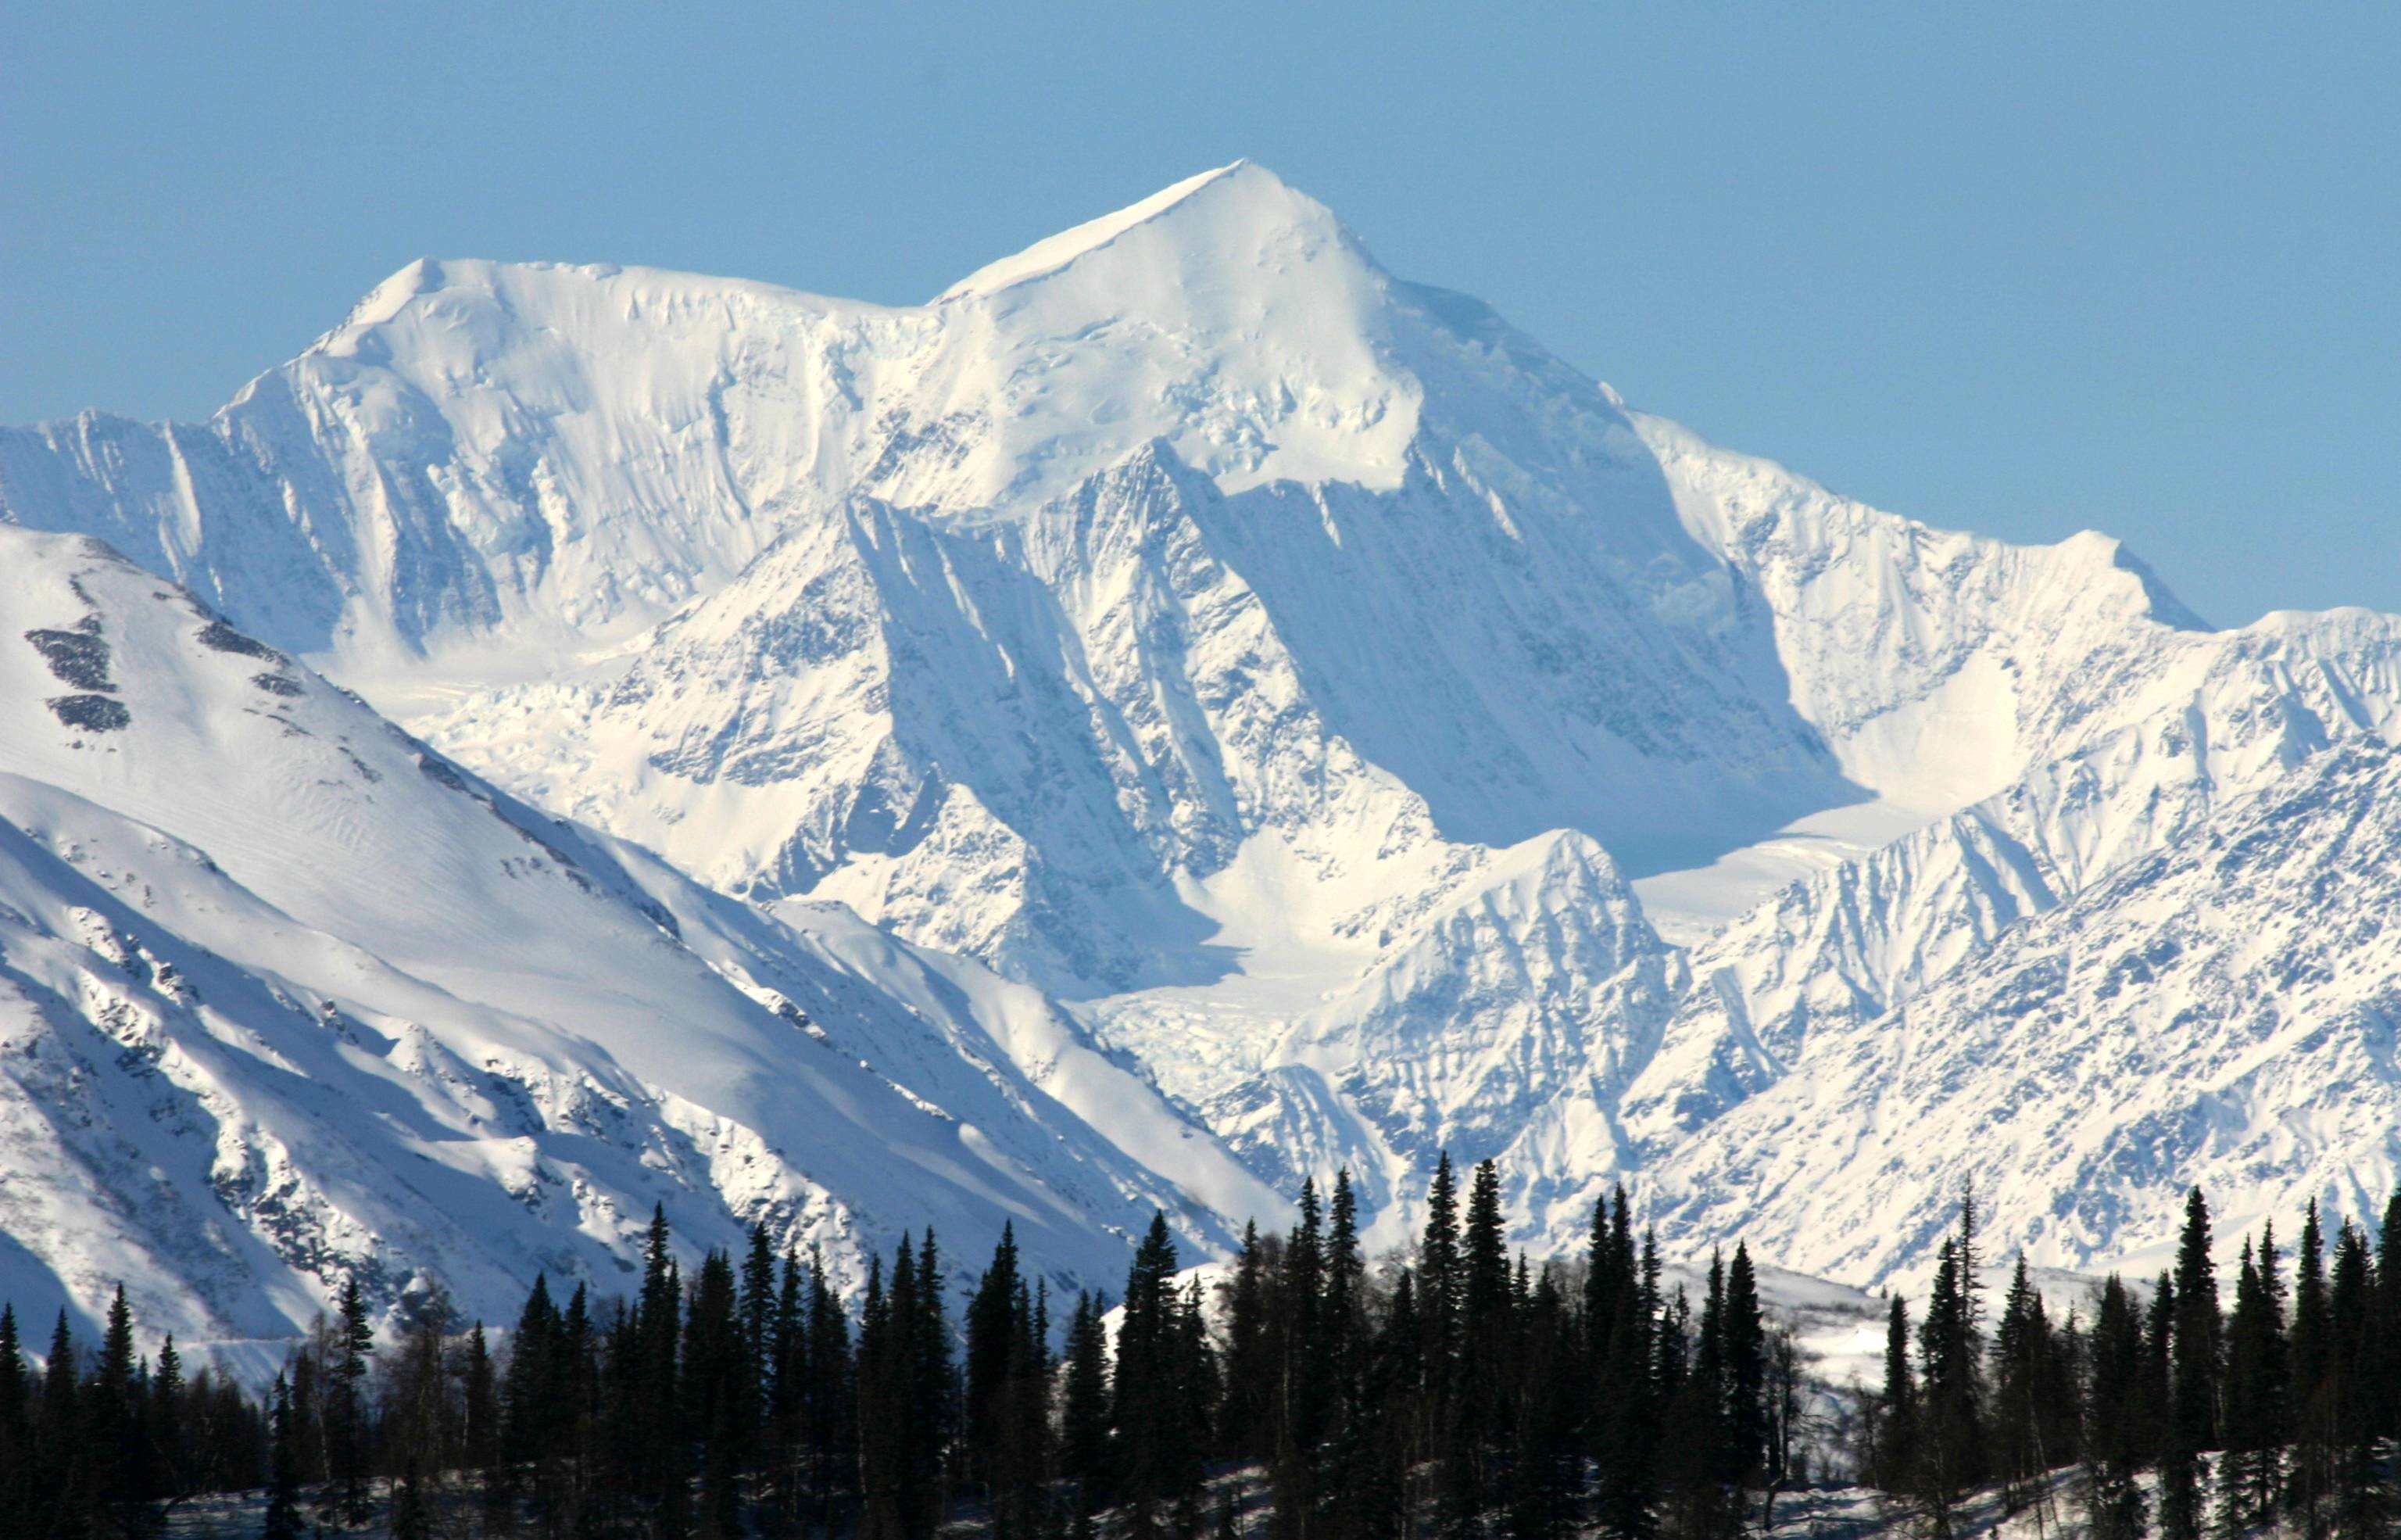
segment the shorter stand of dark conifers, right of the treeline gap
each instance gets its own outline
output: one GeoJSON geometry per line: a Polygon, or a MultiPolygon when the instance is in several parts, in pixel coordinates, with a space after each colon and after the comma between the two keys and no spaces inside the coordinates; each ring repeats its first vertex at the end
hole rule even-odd
{"type": "Polygon", "coordinates": [[[1911,1326],[1892,1300],[1861,1475],[1933,1535],[1976,1487],[1998,1485],[2010,1511],[2050,1502],[2041,1478],[2067,1466],[2094,1540],[2401,1533],[2384,1458],[2401,1437],[2401,1194],[2375,1247],[2343,1220],[2331,1264],[2315,1201],[2291,1257],[2267,1225],[2243,1242],[2228,1307],[2195,1189],[2175,1266],[2146,1290],[2113,1273],[2091,1312],[2053,1324],[2019,1257],[1988,1329],[1962,1201],[1923,1317],[1911,1326]]]}

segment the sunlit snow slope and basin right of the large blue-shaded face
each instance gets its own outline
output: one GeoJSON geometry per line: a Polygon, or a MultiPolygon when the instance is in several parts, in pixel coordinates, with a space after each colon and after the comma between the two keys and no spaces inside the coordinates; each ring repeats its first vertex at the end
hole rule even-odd
{"type": "Polygon", "coordinates": [[[2005,545],[1897,519],[1635,413],[1688,529],[1772,613],[1791,702],[1866,807],[1642,884],[1698,939],[1796,877],[1995,795],[2106,723],[2207,627],[2115,541],[2005,545]]]}

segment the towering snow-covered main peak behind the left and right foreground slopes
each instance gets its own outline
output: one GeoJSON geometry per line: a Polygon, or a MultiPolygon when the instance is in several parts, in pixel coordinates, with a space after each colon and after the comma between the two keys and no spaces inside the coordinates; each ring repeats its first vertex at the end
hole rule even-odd
{"type": "MultiPolygon", "coordinates": [[[[1746,1165],[1748,1108],[2401,738],[2401,620],[2211,632],[2103,536],[1729,454],[1251,163],[917,308],[415,262],[206,425],[0,432],[0,519],[605,831],[749,997],[800,990],[773,954],[915,1007],[920,1079],[1107,1165],[1095,1223],[1181,1189],[1196,1237],[1342,1163],[1397,1235],[1443,1146],[1503,1156],[1527,1240],[1618,1177],[1693,1240],[1767,1225],[1770,1175],[1834,1168],[1746,1165]]],[[[2031,1050],[2074,1084],[2079,1043],[2031,1050]]],[[[2279,1172],[2382,1182],[2310,1129],[2279,1172]]],[[[2024,1240],[2149,1244],[2144,1201],[2024,1240]]],[[[1779,1235],[1858,1283],[1921,1252],[1779,1235]]]]}

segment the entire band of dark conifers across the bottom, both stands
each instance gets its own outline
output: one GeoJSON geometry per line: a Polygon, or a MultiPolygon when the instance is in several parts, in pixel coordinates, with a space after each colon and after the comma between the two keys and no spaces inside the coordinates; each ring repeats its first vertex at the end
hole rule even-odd
{"type": "Polygon", "coordinates": [[[1779,1509],[1818,1533],[1830,1506],[1851,1533],[2389,1535],[2396,1247],[2401,1196],[2379,1247],[2343,1223],[2331,1259],[2312,1206],[2291,1254],[2243,1240],[2228,1309],[2195,1189],[2173,1269],[2055,1317],[2024,1257],[1986,1297],[1962,1201],[1918,1309],[1890,1302],[1880,1384],[1834,1389],[1748,1247],[1695,1302],[1616,1194],[1580,1257],[1534,1266],[1489,1160],[1462,1204],[1445,1156],[1424,1235],[1376,1261],[1347,1172],[1210,1281],[1152,1216],[1114,1297],[1054,1300],[1004,1228],[953,1305],[927,1230],[852,1312],[764,1228],[684,1273],[658,1213],[631,1297],[562,1305],[538,1278],[495,1348],[439,1297],[379,1341],[353,1285],[257,1401],[185,1379],[173,1338],[144,1362],[122,1293],[96,1353],[60,1317],[41,1372],[0,1312],[0,1533],[142,1533],[194,1504],[271,1540],[310,1516],[394,1540],[1736,1540],[1779,1509]]]}

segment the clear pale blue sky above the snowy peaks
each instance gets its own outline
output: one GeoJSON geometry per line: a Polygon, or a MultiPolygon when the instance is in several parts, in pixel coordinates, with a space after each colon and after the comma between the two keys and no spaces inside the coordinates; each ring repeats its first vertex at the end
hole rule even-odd
{"type": "Polygon", "coordinates": [[[415,255],[920,300],[1251,156],[1870,502],[2401,610],[2394,5],[24,5],[0,420],[204,416],[415,255]]]}

